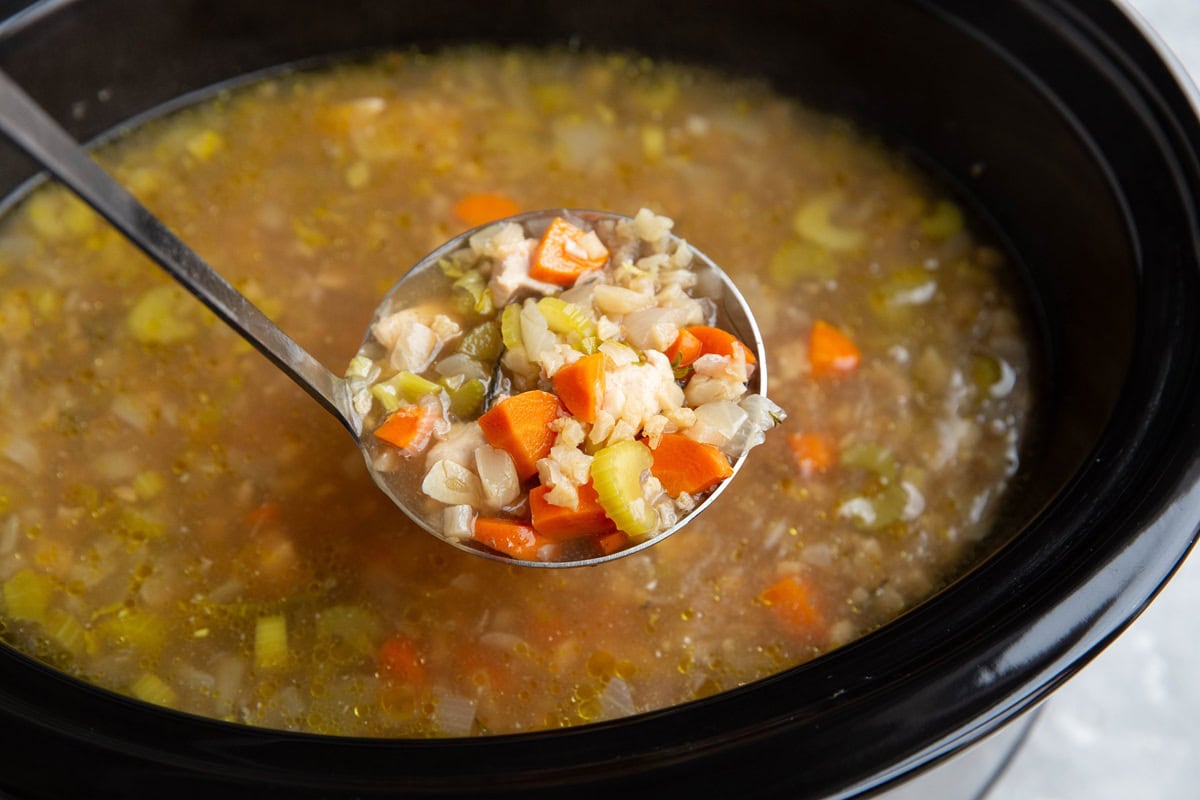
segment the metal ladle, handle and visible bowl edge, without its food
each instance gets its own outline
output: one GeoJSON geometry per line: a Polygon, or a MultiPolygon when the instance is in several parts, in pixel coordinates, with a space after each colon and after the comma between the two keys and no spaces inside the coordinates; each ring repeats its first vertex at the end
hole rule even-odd
{"type": "MultiPolygon", "coordinates": [[[[683,517],[668,530],[644,542],[619,551],[611,555],[586,558],[569,561],[526,561],[508,558],[469,543],[444,537],[418,510],[401,497],[388,475],[378,471],[367,447],[364,444],[362,415],[354,410],[348,381],[330,372],[292,337],[280,330],[262,311],[258,309],[228,281],[221,277],[182,240],[167,228],[161,219],[143,206],[125,187],[116,182],[100,167],[53,118],[49,116],[24,90],[7,74],[0,71],[0,133],[10,138],[44,169],[56,176],[71,191],[113,224],[126,239],[139,247],[173,278],[182,284],[208,306],[222,321],[253,344],[263,355],[282,369],[313,399],[341,421],[354,437],[355,444],[364,453],[367,470],[372,479],[391,500],[416,524],[442,541],[475,555],[482,555],[509,564],[540,567],[586,566],[623,558],[655,545],[680,528],[685,527],[696,515],[707,509],[716,497],[730,485],[732,476],[716,486],[688,516],[683,517]]],[[[554,216],[570,213],[595,223],[600,219],[623,219],[620,215],[599,211],[548,210],[534,211],[511,217],[514,222],[536,224],[548,223],[554,216]]],[[[478,229],[475,229],[478,230],[478,229]]],[[[407,290],[420,282],[430,271],[440,273],[438,261],[450,253],[466,246],[467,239],[475,233],[462,233],[442,247],[437,248],[400,281],[384,296],[376,308],[364,342],[371,338],[371,326],[383,314],[403,307],[407,290]]],[[[767,393],[767,359],[763,351],[762,336],[745,299],[738,291],[730,277],[700,251],[692,249],[692,270],[700,273],[701,284],[712,287],[706,296],[713,299],[718,307],[718,324],[730,330],[739,339],[748,343],[757,359],[757,368],[751,377],[749,390],[758,395],[767,393]]],[[[734,474],[746,459],[743,453],[733,463],[734,474]]]]}

